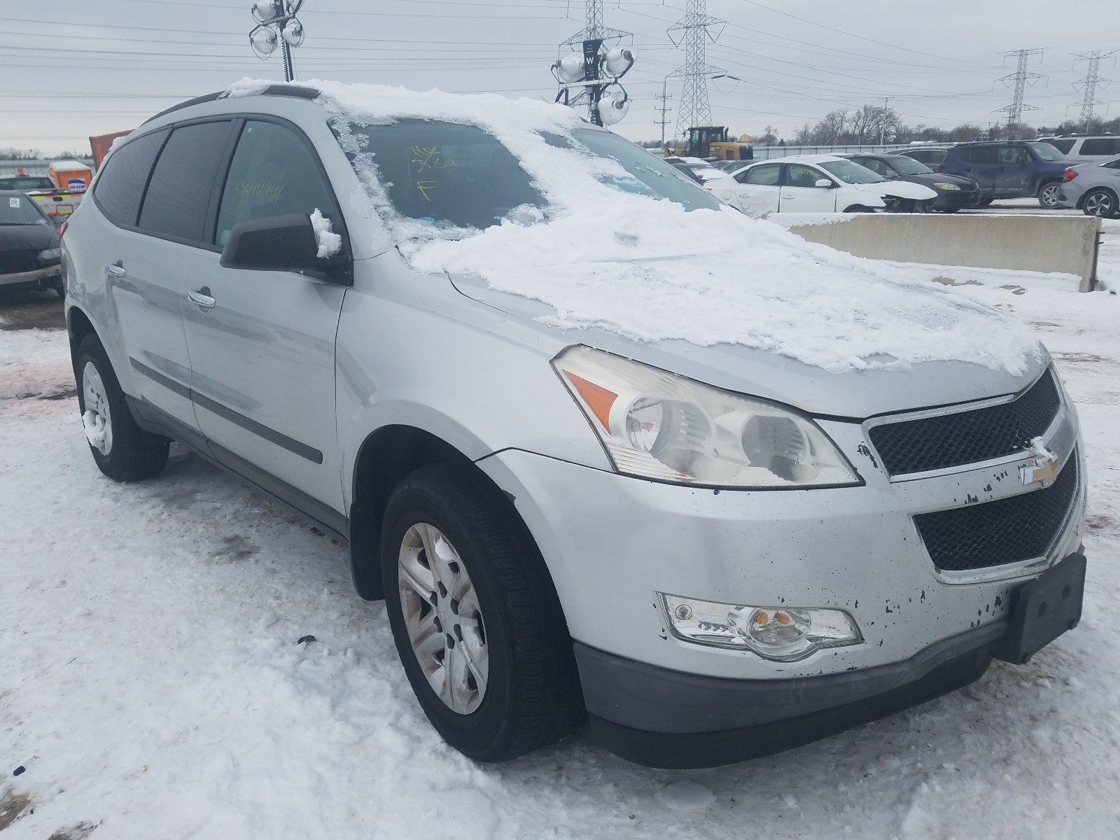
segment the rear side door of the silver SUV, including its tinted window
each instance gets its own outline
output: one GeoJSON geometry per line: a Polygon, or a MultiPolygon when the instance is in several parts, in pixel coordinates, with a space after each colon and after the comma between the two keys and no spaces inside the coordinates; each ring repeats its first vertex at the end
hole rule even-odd
{"type": "MultiPolygon", "coordinates": [[[[187,431],[197,431],[197,423],[183,326],[185,270],[202,242],[231,128],[228,119],[213,120],[177,125],[169,136],[165,131],[138,138],[120,150],[137,146],[137,153],[128,159],[112,156],[105,172],[140,167],[147,183],[132,230],[114,236],[105,256],[106,304],[128,355],[120,362],[131,368],[133,396],[187,431]],[[149,176],[143,160],[152,158],[149,176]]],[[[99,184],[99,202],[112,200],[103,193],[99,184]]]]}

